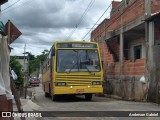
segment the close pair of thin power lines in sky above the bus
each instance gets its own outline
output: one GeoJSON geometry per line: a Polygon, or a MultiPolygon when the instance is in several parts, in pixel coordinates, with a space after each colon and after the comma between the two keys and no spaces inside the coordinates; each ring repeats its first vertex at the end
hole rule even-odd
{"type": "Polygon", "coordinates": [[[89,11],[89,9],[92,7],[93,3],[95,2],[95,0],[91,0],[90,3],[88,4],[87,8],[85,9],[83,15],[81,16],[81,18],[79,19],[78,24],[76,24],[75,28],[72,30],[72,32],[68,35],[67,39],[69,39],[73,33],[76,31],[76,29],[78,28],[78,26],[81,24],[81,22],[84,20],[84,17],[86,16],[87,12],[89,11]]]}

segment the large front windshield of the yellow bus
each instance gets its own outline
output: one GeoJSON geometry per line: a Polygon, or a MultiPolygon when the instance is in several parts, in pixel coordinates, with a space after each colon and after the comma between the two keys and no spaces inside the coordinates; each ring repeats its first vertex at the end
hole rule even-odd
{"type": "Polygon", "coordinates": [[[57,72],[98,72],[98,50],[58,50],[57,72]]]}

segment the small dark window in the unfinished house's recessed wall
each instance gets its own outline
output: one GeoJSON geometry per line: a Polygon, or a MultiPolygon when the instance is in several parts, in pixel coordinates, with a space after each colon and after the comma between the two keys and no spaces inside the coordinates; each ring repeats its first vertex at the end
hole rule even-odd
{"type": "Polygon", "coordinates": [[[134,47],[134,60],[140,59],[142,56],[142,45],[134,47]]]}

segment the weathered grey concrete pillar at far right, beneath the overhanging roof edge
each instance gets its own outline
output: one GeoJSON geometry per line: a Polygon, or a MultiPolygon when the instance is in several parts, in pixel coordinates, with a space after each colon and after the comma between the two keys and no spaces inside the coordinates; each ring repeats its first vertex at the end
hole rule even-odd
{"type": "Polygon", "coordinates": [[[154,64],[154,21],[147,23],[148,30],[146,32],[147,39],[147,54],[146,54],[146,64],[147,64],[147,79],[149,83],[148,89],[148,101],[156,102],[156,76],[154,64]]]}

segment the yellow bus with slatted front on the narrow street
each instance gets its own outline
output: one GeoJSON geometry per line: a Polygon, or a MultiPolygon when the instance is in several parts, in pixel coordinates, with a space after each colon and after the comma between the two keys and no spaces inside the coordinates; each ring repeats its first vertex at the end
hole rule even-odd
{"type": "Polygon", "coordinates": [[[55,101],[59,95],[102,93],[103,70],[95,42],[55,42],[43,63],[42,86],[45,96],[55,101]]]}

